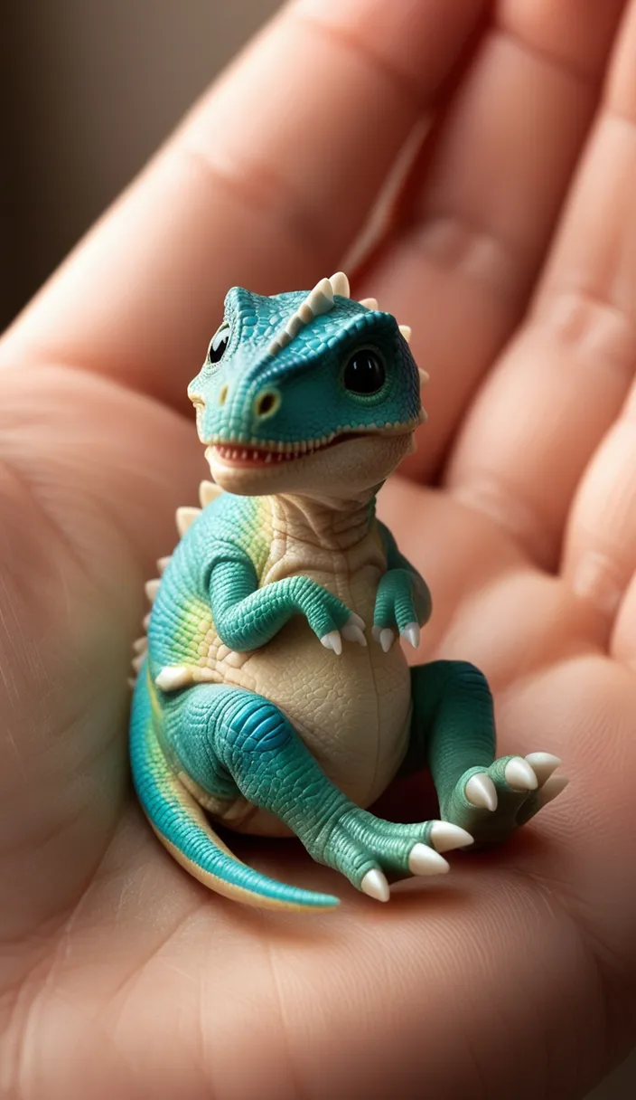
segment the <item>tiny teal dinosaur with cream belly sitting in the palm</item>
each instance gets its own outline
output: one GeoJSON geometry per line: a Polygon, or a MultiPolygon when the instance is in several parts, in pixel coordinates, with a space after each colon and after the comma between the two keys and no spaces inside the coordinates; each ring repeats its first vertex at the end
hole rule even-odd
{"type": "Polygon", "coordinates": [[[341,272],[308,293],[234,287],[189,386],[213,482],[180,508],[135,644],[131,759],[150,824],[213,890],[316,910],[327,894],[232,855],[232,829],[294,833],[365,893],[448,870],[440,853],[509,836],[562,790],[547,752],[495,759],[471,664],[409,668],[431,597],[375,514],[424,419],[410,330],[354,301],[341,272]],[[440,821],[365,807],[427,767],[440,821]]]}

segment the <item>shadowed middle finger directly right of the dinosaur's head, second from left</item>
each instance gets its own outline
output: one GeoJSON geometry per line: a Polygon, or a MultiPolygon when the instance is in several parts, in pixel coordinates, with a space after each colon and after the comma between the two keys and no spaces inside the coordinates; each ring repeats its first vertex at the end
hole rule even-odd
{"type": "Polygon", "coordinates": [[[622,0],[505,0],[424,148],[360,292],[413,327],[432,381],[413,476],[438,466],[526,307],[598,98],[622,0]]]}

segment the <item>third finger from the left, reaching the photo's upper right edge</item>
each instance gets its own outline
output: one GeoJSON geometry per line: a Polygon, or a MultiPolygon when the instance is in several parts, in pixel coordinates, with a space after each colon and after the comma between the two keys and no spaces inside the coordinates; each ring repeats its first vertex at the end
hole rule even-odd
{"type": "MultiPolygon", "coordinates": [[[[635,51],[633,2],[535,307],[482,388],[447,475],[548,568],[636,362],[635,51]]],[[[567,568],[576,569],[571,557],[567,568]]]]}

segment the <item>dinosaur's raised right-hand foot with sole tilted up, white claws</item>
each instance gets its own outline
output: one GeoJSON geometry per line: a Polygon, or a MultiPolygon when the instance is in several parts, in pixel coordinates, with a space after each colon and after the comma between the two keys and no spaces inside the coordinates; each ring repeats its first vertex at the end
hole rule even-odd
{"type": "Polygon", "coordinates": [[[469,768],[444,800],[443,816],[479,845],[499,844],[565,790],[566,777],[554,774],[560,762],[550,752],[529,752],[469,768]]]}

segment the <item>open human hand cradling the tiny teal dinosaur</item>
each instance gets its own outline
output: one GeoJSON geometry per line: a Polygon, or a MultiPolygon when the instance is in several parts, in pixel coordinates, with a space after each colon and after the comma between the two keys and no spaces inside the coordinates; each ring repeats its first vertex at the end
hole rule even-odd
{"type": "MultiPolygon", "coordinates": [[[[301,0],[4,337],[3,1096],[564,1098],[624,1053],[635,54],[618,0],[301,0]],[[413,327],[432,375],[381,510],[433,591],[420,658],[481,666],[500,751],[556,752],[572,782],[496,854],[386,906],[294,842],[237,838],[343,898],[247,911],[169,858],[127,780],[143,582],[205,473],[185,388],[225,289],[335,270],[431,116],[353,284],[413,327]]],[[[423,818],[424,796],[383,810],[423,818]]]]}

